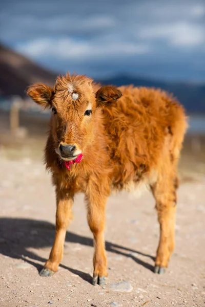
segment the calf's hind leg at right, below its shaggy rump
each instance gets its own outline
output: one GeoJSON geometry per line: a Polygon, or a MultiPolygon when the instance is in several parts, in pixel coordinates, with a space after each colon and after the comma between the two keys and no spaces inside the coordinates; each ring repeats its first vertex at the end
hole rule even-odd
{"type": "Polygon", "coordinates": [[[178,183],[176,175],[167,173],[151,187],[156,200],[160,225],[159,245],[154,269],[154,272],[158,274],[165,272],[175,245],[176,188],[178,186],[176,182],[178,183]]]}

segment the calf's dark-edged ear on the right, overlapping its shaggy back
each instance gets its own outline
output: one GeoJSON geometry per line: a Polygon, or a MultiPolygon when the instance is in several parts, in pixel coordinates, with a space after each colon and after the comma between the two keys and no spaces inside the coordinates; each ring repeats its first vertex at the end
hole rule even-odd
{"type": "Polygon", "coordinates": [[[96,93],[97,106],[111,103],[122,96],[122,93],[114,86],[103,86],[96,93]]]}

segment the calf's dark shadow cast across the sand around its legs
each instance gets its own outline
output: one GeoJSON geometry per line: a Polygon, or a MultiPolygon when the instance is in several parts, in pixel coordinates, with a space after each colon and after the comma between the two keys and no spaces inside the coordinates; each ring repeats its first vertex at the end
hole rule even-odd
{"type": "MultiPolygon", "coordinates": [[[[2,217],[0,218],[0,253],[11,258],[23,259],[32,264],[39,272],[42,269],[42,266],[36,264],[36,262],[32,260],[45,262],[47,259],[40,257],[27,249],[51,247],[53,244],[54,235],[55,225],[49,222],[30,220],[27,218],[2,217]]],[[[91,247],[93,246],[93,240],[91,238],[78,235],[70,231],[67,231],[66,242],[78,243],[80,245],[91,247]]],[[[148,254],[111,242],[106,242],[106,250],[118,255],[130,257],[136,261],[137,264],[145,267],[146,269],[151,271],[154,270],[154,267],[149,263],[139,259],[136,257],[136,255],[133,255],[133,253],[137,253],[154,260],[154,257],[148,254]]],[[[73,274],[80,276],[88,282],[92,281],[90,274],[69,268],[68,266],[60,266],[69,270],[73,274]]]]}

